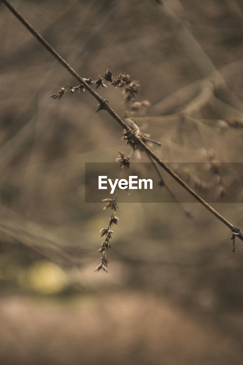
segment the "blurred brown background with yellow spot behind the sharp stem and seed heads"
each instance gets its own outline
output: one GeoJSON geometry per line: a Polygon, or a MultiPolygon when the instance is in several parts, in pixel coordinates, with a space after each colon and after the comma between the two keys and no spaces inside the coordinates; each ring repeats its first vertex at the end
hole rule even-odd
{"type": "MultiPolygon", "coordinates": [[[[97,91],[162,143],[150,147],[175,170],[207,162],[200,176],[178,173],[198,193],[207,175],[225,198],[241,182],[232,165],[215,166],[243,162],[243,3],[159,3],[11,1],[82,77],[109,68],[139,80],[134,101],[148,100],[146,110],[108,82],[97,91]],[[178,118],[197,95],[199,106],[178,118]]],[[[199,203],[118,196],[108,274],[94,273],[111,211],[85,203],[85,162],[131,149],[88,92],[51,99],[78,82],[4,4],[0,19],[1,363],[242,364],[243,242],[232,253],[231,231],[199,203]]],[[[131,161],[149,162],[143,153],[131,161]]],[[[243,228],[242,203],[212,205],[243,228]]]]}

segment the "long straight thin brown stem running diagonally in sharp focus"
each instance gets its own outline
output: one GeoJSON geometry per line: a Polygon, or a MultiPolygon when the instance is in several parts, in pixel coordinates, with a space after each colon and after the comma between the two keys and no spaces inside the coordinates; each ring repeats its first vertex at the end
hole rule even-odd
{"type": "MultiPolygon", "coordinates": [[[[92,94],[96,100],[99,101],[102,108],[107,110],[108,113],[122,126],[125,130],[132,134],[131,128],[127,126],[126,123],[116,114],[116,112],[109,106],[108,102],[103,99],[99,94],[97,94],[85,81],[84,79],[72,69],[69,64],[45,41],[45,39],[38,33],[36,30],[19,14],[19,12],[7,1],[1,0],[9,10],[20,20],[20,22],[35,36],[36,39],[60,62],[72,75],[75,77],[80,83],[82,83],[86,90],[92,94]]],[[[213,215],[215,215],[218,219],[221,220],[227,227],[231,229],[237,237],[239,237],[243,241],[243,233],[239,230],[239,228],[233,226],[233,224],[229,223],[227,219],[221,216],[215,209],[213,209],[205,200],[203,200],[196,192],[194,192],[180,177],[178,177],[150,148],[142,141],[142,139],[136,135],[132,134],[132,140],[136,145],[142,147],[142,149],[150,155],[154,161],[156,161],[170,176],[174,178],[184,189],[186,189],[192,196],[194,196],[197,201],[199,201],[205,208],[207,208],[213,215]]]]}

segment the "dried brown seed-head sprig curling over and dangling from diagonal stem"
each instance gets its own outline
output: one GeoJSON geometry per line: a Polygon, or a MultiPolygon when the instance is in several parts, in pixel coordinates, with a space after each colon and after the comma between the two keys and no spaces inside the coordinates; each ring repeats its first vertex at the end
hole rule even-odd
{"type": "MultiPolygon", "coordinates": [[[[134,97],[136,94],[139,93],[140,91],[140,84],[138,81],[132,81],[130,80],[130,75],[128,75],[127,73],[120,73],[118,77],[116,77],[115,75],[112,74],[112,71],[107,69],[107,71],[104,73],[103,78],[100,76],[99,74],[99,78],[97,80],[91,80],[91,77],[89,76],[89,78],[83,78],[83,80],[88,84],[91,85],[92,87],[95,87],[95,89],[98,89],[100,86],[102,86],[103,88],[107,88],[107,85],[105,84],[105,81],[109,81],[109,84],[111,85],[111,87],[114,88],[123,88],[122,90],[122,94],[124,96],[124,102],[129,102],[132,103],[131,104],[131,110],[126,112],[125,115],[125,121],[127,123],[127,125],[129,127],[131,127],[131,130],[126,130],[124,129],[124,131],[122,132],[123,137],[121,139],[124,139],[126,141],[126,145],[129,145],[131,147],[131,153],[129,156],[125,157],[124,153],[118,150],[119,153],[119,157],[116,158],[116,161],[119,162],[119,168],[122,168],[119,180],[121,179],[121,176],[123,174],[124,169],[127,167],[128,169],[130,169],[130,157],[133,151],[140,149],[140,151],[143,151],[143,148],[141,148],[137,143],[134,142],[134,140],[132,139],[132,135],[136,134],[144,143],[146,142],[152,142],[155,143],[158,146],[161,146],[160,142],[154,141],[153,139],[149,138],[150,135],[147,133],[143,133],[140,131],[139,127],[135,124],[135,122],[129,118],[129,116],[131,116],[135,111],[139,112],[140,114],[145,114],[146,112],[146,108],[150,105],[148,100],[143,100],[143,101],[136,101],[134,100],[134,97]],[[103,79],[104,78],[104,79],[103,79]]],[[[83,84],[80,85],[76,85],[76,86],[71,86],[69,84],[67,84],[67,87],[62,87],[57,94],[51,94],[50,97],[53,99],[61,99],[61,97],[66,93],[66,92],[70,92],[72,93],[73,97],[75,96],[75,92],[78,92],[78,95],[82,92],[85,92],[85,88],[83,84]]],[[[108,100],[105,100],[108,103],[108,100]]],[[[100,110],[102,110],[102,104],[98,104],[97,105],[97,109],[96,112],[99,112],[100,110]]],[[[148,155],[148,157],[150,158],[150,156],[148,155]]],[[[152,161],[152,163],[154,164],[154,162],[152,161]]],[[[160,185],[161,186],[165,186],[167,187],[167,189],[169,189],[170,193],[174,196],[175,200],[180,202],[179,199],[177,198],[177,196],[174,194],[174,192],[172,191],[172,189],[169,187],[168,184],[166,184],[165,180],[163,179],[163,177],[161,176],[159,170],[157,169],[157,166],[154,164],[155,170],[158,172],[159,177],[160,177],[160,185]],[[162,184],[163,182],[163,184],[162,184]]],[[[111,179],[113,183],[115,183],[115,180],[111,179]]],[[[119,191],[119,180],[117,181],[116,184],[116,195],[113,199],[103,199],[102,201],[106,201],[107,204],[105,205],[104,209],[106,208],[111,208],[112,210],[112,214],[111,214],[111,218],[109,219],[109,225],[108,228],[102,228],[100,230],[100,235],[101,237],[105,236],[105,241],[101,243],[100,249],[97,251],[99,253],[102,254],[101,258],[100,258],[100,264],[97,266],[97,268],[95,269],[95,272],[100,271],[101,269],[103,269],[105,272],[108,272],[108,257],[106,255],[105,250],[108,251],[108,248],[111,248],[111,244],[110,244],[110,239],[112,238],[112,234],[114,233],[112,230],[110,230],[112,224],[118,224],[118,218],[115,216],[116,210],[118,208],[116,200],[117,200],[117,194],[119,191]]],[[[127,190],[127,189],[126,189],[127,190]]],[[[188,216],[190,215],[189,210],[187,210],[184,205],[180,202],[181,206],[184,208],[186,214],[188,216]]]]}

